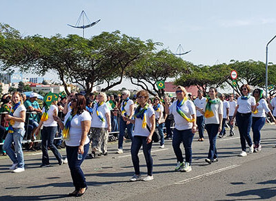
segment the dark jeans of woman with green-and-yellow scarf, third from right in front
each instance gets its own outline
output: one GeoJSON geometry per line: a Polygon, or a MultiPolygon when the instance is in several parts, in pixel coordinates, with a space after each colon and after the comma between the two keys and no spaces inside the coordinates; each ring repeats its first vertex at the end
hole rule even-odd
{"type": "Polygon", "coordinates": [[[219,131],[219,124],[211,123],[205,125],[207,134],[209,137],[209,153],[208,158],[210,160],[213,160],[214,158],[217,158],[217,147],[216,147],[216,141],[217,141],[217,132],[219,131]]]}

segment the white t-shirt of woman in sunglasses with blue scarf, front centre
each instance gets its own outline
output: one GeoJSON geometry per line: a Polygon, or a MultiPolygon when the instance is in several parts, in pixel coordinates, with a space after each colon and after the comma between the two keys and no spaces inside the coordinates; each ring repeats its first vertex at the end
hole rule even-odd
{"type": "MultiPolygon", "coordinates": [[[[151,128],[150,117],[154,114],[155,114],[155,110],[149,106],[148,109],[146,110],[146,122],[149,128],[151,128]]],[[[148,135],[150,134],[150,131],[148,131],[147,127],[143,128],[142,123],[143,123],[143,120],[141,120],[141,118],[135,118],[135,127],[132,134],[133,136],[148,137],[148,135]]]]}

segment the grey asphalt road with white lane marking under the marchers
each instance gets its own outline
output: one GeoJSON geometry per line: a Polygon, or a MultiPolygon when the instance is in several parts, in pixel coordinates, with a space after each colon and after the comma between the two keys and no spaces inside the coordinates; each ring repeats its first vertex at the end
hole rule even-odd
{"type": "MultiPolygon", "coordinates": [[[[218,138],[219,161],[212,165],[204,142],[193,141],[193,170],[175,172],[176,158],[171,140],[165,148],[152,146],[154,180],[128,182],[134,174],[130,142],[124,143],[124,154],[115,154],[117,144],[108,145],[108,156],[87,159],[82,169],[88,191],[79,200],[276,200],[276,127],[262,130],[262,151],[246,157],[241,152],[239,134],[218,138]]],[[[65,151],[61,151],[66,155],[65,151]]],[[[74,190],[68,165],[57,164],[50,153],[52,167],[39,168],[41,152],[25,153],[26,171],[10,173],[11,161],[0,156],[0,200],[75,200],[67,194],[74,190]]],[[[140,154],[140,166],[146,176],[146,163],[140,154]]]]}

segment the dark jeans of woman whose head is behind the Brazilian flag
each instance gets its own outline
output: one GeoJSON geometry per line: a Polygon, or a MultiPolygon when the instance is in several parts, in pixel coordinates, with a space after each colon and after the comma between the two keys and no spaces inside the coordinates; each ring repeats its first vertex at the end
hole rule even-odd
{"type": "Polygon", "coordinates": [[[61,163],[62,156],[54,145],[54,138],[57,133],[57,127],[43,127],[41,131],[41,144],[42,144],[42,165],[49,165],[48,147],[51,149],[52,154],[55,155],[59,164],[61,163]]]}

